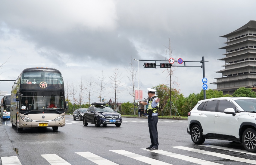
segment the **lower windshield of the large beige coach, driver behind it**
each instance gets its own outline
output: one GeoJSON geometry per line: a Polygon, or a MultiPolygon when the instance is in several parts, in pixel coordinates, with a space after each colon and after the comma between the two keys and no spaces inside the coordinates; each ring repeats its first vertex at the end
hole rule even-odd
{"type": "Polygon", "coordinates": [[[63,92],[23,92],[20,97],[20,113],[64,112],[63,92]]]}

